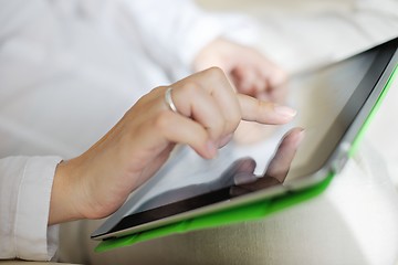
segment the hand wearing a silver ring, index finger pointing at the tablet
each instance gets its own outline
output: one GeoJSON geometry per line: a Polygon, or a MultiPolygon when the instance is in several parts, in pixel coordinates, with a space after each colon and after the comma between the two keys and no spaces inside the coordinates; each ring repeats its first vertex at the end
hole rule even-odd
{"type": "Polygon", "coordinates": [[[176,144],[211,159],[241,119],[285,124],[295,114],[237,94],[220,68],[199,72],[171,87],[178,113],[165,103],[167,87],[157,87],[86,152],[59,165],[49,224],[112,214],[165,163],[176,144]]]}

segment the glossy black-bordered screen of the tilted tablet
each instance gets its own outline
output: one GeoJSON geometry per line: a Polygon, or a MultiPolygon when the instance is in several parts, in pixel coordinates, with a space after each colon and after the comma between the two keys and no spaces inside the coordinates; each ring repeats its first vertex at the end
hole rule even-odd
{"type": "MultiPolygon", "coordinates": [[[[171,174],[169,181],[163,179],[163,182],[167,182],[168,186],[163,190],[159,189],[158,192],[148,192],[157,187],[158,182],[155,181],[148,183],[150,189],[143,188],[142,195],[139,195],[139,191],[138,195],[133,194],[118,213],[121,221],[116,225],[107,227],[107,233],[128,230],[167,216],[229,201],[251,192],[262,192],[275,188],[275,186],[286,186],[318,171],[329,159],[369,97],[391,60],[396,45],[397,41],[389,42],[389,44],[379,45],[333,65],[294,77],[289,88],[289,103],[298,110],[298,115],[293,124],[283,127],[279,131],[280,134],[273,136],[276,139],[273,146],[268,144],[261,147],[264,156],[254,160],[258,163],[259,160],[265,163],[264,176],[251,180],[251,183],[237,184],[234,180],[237,176],[242,171],[250,171],[253,161],[247,158],[234,160],[237,157],[230,156],[233,147],[228,146],[223,148],[223,151],[221,150],[223,162],[217,161],[217,159],[200,162],[196,160],[196,163],[190,166],[188,159],[185,161],[188,167],[179,171],[180,176],[178,177],[176,177],[177,171],[172,171],[170,166],[166,166],[159,174],[171,174]],[[279,151],[283,149],[281,148],[281,137],[294,127],[304,128],[305,137],[294,153],[287,151],[287,156],[282,153],[277,157],[279,151]],[[275,151],[275,149],[277,150],[275,151]],[[281,174],[280,172],[275,173],[274,168],[279,167],[277,163],[286,163],[283,159],[286,160],[289,156],[291,156],[289,167],[287,170],[282,170],[282,178],[269,178],[266,172],[271,167],[274,174],[281,174]],[[195,179],[192,176],[198,170],[201,171],[200,181],[184,183],[184,180],[195,179]],[[208,178],[206,171],[211,172],[212,176],[208,178]]],[[[187,151],[181,153],[181,157],[187,156],[187,151]]],[[[178,160],[178,157],[176,159],[178,160]]],[[[181,165],[179,167],[181,168],[181,165]]]]}

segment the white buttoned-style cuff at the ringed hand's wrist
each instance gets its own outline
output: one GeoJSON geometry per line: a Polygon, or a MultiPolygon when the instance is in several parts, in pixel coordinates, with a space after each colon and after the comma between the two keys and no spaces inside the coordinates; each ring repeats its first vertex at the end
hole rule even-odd
{"type": "Polygon", "coordinates": [[[60,157],[27,160],[18,192],[14,222],[15,255],[22,259],[50,261],[57,248],[57,225],[48,226],[50,199],[60,157]]]}

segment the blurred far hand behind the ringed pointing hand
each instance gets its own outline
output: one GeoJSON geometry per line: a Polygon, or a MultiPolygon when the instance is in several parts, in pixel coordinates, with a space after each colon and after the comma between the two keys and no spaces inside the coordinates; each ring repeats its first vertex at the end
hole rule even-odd
{"type": "MultiPolygon", "coordinates": [[[[254,49],[218,39],[207,45],[193,61],[195,71],[210,66],[221,67],[239,93],[279,104],[285,100],[285,72],[254,49]]],[[[271,131],[269,126],[242,121],[234,139],[241,144],[251,144],[265,138],[271,131]]]]}

